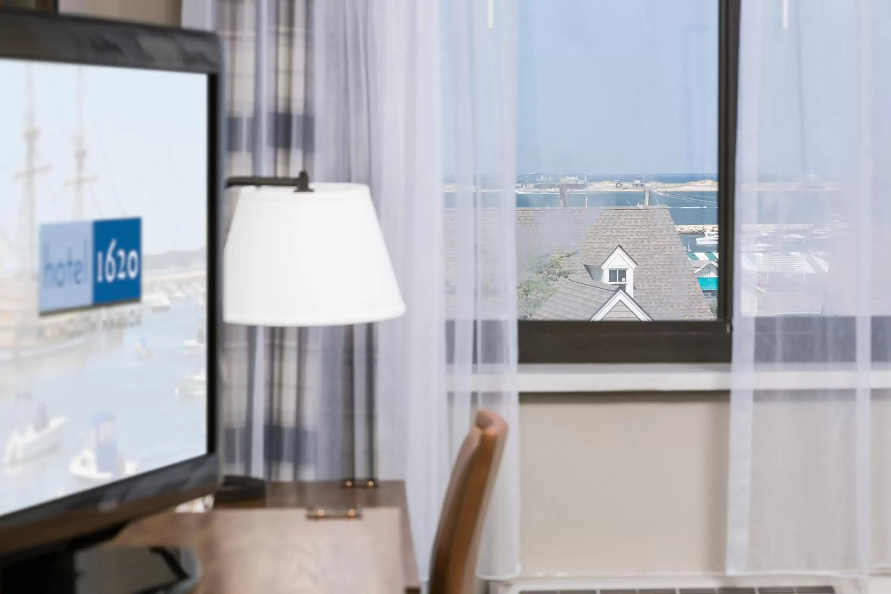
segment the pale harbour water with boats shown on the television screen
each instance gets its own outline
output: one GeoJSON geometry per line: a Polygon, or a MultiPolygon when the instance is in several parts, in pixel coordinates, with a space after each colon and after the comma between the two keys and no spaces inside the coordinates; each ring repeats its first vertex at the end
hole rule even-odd
{"type": "Polygon", "coordinates": [[[182,378],[204,368],[203,352],[185,354],[184,349],[184,342],[204,326],[204,311],[192,297],[174,300],[167,312],[144,311],[141,325],[98,330],[106,333],[106,346],[85,354],[82,362],[42,370],[23,382],[34,402],[46,404],[50,419],[67,419],[61,445],[51,452],[4,465],[12,430],[33,409],[15,398],[0,402],[0,515],[95,486],[69,472],[95,412],[116,417],[118,450],[125,460],[138,463],[137,473],[205,453],[206,398],[175,395],[182,378]],[[143,336],[154,351],[151,359],[136,354],[143,336]]]}

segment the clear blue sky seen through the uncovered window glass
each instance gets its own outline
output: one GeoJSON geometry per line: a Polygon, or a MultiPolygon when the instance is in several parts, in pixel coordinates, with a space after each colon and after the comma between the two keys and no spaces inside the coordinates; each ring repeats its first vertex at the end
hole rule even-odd
{"type": "Polygon", "coordinates": [[[717,0],[519,7],[519,174],[717,171],[717,0]]]}

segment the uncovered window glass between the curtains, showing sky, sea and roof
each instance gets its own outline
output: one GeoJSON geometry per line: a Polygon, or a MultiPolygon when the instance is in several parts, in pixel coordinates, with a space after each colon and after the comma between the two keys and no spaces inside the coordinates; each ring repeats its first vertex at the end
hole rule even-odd
{"type": "Polygon", "coordinates": [[[714,319],[718,0],[519,4],[519,317],[714,319]]]}

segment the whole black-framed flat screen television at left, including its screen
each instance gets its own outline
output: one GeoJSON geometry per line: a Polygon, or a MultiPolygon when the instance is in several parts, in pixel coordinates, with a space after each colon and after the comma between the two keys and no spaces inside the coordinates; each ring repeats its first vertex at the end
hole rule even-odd
{"type": "Polygon", "coordinates": [[[221,63],[0,9],[0,561],[217,486],[221,63]]]}

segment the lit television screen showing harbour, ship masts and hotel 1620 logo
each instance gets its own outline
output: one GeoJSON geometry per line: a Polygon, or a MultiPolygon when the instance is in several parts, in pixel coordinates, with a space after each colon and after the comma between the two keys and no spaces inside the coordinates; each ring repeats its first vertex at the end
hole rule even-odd
{"type": "Polygon", "coordinates": [[[208,77],[0,80],[3,516],[208,453],[208,77]]]}

